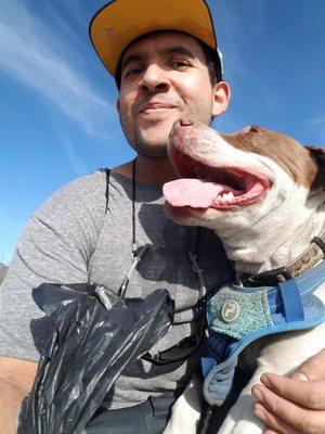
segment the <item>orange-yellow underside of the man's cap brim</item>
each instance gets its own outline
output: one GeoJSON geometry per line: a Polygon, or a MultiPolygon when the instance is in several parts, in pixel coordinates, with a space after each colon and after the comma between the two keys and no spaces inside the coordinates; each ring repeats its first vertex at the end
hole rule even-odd
{"type": "Polygon", "coordinates": [[[94,15],[89,26],[94,49],[113,76],[128,44],[155,30],[184,31],[217,49],[213,23],[205,1],[114,0],[94,15]]]}

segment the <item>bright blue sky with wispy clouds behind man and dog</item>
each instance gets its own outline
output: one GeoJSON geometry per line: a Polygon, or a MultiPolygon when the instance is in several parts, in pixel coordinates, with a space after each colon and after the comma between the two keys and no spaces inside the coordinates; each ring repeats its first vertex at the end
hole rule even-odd
{"type": "MultiPolygon", "coordinates": [[[[136,0],[134,0],[136,1],[136,0]]],[[[155,1],[155,0],[152,0],[155,1]]],[[[114,80],[88,37],[100,0],[0,2],[0,261],[64,183],[130,159],[114,80]]],[[[325,144],[325,1],[210,0],[232,103],[247,124],[325,144]]]]}

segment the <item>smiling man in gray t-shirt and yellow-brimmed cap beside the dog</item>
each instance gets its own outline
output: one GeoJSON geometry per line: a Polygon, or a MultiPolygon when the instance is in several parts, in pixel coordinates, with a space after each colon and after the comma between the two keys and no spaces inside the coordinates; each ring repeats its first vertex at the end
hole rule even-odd
{"type": "MultiPolygon", "coordinates": [[[[147,244],[127,294],[143,297],[167,288],[177,309],[176,326],[151,349],[155,354],[196,330],[199,294],[187,259],[190,245],[208,290],[231,275],[218,239],[206,230],[197,233],[172,224],[161,197],[161,184],[174,178],[166,153],[173,122],[192,118],[209,124],[226,110],[230,99],[207,5],[200,0],[116,0],[95,15],[90,30],[117,81],[120,123],[138,157],[113,169],[107,197],[106,177],[100,171],[63,188],[31,217],[18,242],[0,294],[1,434],[15,432],[21,401],[35,378],[38,349],[51,331],[30,297],[34,286],[43,281],[95,281],[118,292],[132,255],[147,244]]],[[[100,432],[103,418],[115,433],[161,432],[170,406],[197,363],[195,354],[185,362],[162,367],[140,360],[117,380],[88,432],[100,432]]],[[[274,391],[265,385],[268,393],[274,391]]],[[[262,386],[255,392],[265,396],[262,386]]],[[[273,401],[274,396],[265,396],[271,410],[273,401]]],[[[285,414],[284,420],[292,425],[285,414]]]]}

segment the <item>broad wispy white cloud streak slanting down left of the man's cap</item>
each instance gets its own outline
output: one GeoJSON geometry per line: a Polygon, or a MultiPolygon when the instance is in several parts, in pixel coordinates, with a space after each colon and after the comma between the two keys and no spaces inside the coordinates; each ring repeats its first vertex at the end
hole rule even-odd
{"type": "Polygon", "coordinates": [[[82,76],[73,47],[67,56],[65,35],[54,37],[22,2],[6,3],[0,5],[0,69],[46,97],[89,135],[106,136],[115,105],[82,76]]]}

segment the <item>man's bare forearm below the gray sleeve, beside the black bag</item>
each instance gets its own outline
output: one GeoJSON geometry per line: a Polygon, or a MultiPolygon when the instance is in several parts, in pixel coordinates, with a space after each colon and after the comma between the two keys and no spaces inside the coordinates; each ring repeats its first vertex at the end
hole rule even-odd
{"type": "Polygon", "coordinates": [[[16,433],[17,417],[30,392],[37,363],[0,356],[0,434],[16,433]]]}

